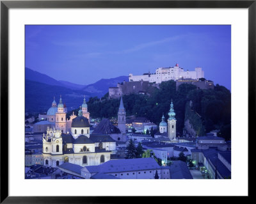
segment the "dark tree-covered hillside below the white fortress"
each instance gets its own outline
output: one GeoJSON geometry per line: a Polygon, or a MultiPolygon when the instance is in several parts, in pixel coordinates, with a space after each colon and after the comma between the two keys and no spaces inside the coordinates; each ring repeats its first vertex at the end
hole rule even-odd
{"type": "MultiPolygon", "coordinates": [[[[146,117],[159,125],[161,116],[168,118],[170,103],[173,99],[177,119],[177,133],[184,129],[186,111],[194,111],[199,116],[195,120],[195,128],[200,127],[198,136],[205,132],[219,129],[219,136],[230,139],[231,132],[231,93],[224,86],[216,84],[212,90],[199,90],[193,84],[180,84],[176,90],[175,81],[165,81],[159,84],[159,89],[151,95],[131,93],[124,95],[124,106],[127,116],[146,117]],[[186,109],[186,105],[191,105],[186,109]]],[[[88,101],[90,114],[93,118],[116,118],[120,99],[108,99],[108,94],[102,98],[93,97],[88,101]]]]}

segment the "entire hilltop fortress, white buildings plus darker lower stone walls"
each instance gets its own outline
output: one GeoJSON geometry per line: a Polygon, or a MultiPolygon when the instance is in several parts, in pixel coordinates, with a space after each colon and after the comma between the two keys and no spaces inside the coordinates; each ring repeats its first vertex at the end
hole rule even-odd
{"type": "Polygon", "coordinates": [[[156,73],[143,75],[129,74],[129,82],[118,83],[116,87],[109,87],[109,98],[119,98],[130,93],[149,94],[154,87],[159,88],[163,81],[176,81],[176,89],[183,83],[194,84],[200,89],[213,89],[214,82],[204,78],[204,71],[201,67],[196,67],[195,71],[184,71],[176,63],[175,67],[157,68],[156,73]]]}

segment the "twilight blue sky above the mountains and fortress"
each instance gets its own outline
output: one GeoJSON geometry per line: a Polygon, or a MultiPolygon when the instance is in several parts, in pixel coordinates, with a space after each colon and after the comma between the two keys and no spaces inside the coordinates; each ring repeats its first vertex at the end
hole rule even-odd
{"type": "Polygon", "coordinates": [[[26,26],[26,67],[57,80],[155,72],[179,63],[231,89],[231,26],[26,26]]]}

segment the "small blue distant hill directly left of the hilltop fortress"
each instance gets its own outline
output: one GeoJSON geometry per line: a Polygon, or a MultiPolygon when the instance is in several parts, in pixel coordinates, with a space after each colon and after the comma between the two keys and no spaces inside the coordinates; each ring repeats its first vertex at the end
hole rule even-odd
{"type": "Polygon", "coordinates": [[[116,86],[118,82],[129,81],[128,76],[120,76],[111,79],[100,79],[94,84],[89,84],[83,88],[84,91],[89,93],[97,93],[98,97],[103,97],[108,93],[108,88],[116,86]]]}

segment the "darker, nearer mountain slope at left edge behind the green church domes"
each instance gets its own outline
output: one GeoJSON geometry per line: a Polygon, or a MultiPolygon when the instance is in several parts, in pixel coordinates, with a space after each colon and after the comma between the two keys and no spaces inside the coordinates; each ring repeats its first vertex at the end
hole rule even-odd
{"type": "Polygon", "coordinates": [[[25,81],[25,110],[26,112],[46,112],[51,107],[53,97],[58,104],[60,95],[68,111],[77,109],[83,104],[83,95],[86,100],[95,97],[93,93],[82,90],[71,90],[63,86],[52,86],[36,81],[25,81]]]}

